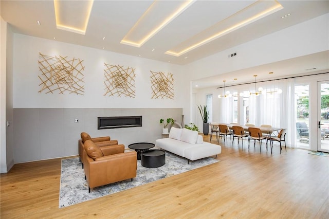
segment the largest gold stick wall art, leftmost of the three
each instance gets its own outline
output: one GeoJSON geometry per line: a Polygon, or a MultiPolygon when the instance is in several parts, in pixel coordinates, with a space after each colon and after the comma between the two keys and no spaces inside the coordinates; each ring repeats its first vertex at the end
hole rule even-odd
{"type": "Polygon", "coordinates": [[[39,93],[53,94],[77,94],[84,95],[84,77],[82,71],[83,60],[68,59],[67,57],[47,56],[39,52],[39,70],[41,80],[39,86],[42,86],[39,93]]]}

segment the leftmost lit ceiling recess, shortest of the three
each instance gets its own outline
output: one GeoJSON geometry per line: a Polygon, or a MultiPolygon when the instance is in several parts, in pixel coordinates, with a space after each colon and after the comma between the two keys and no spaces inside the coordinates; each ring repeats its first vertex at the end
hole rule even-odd
{"type": "Polygon", "coordinates": [[[57,29],[86,34],[90,12],[94,0],[60,1],[54,0],[57,29]]]}

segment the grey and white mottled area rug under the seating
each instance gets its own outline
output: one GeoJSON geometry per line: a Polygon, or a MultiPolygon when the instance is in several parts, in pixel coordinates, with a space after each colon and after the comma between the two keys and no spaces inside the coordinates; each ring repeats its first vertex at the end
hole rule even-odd
{"type": "Polygon", "coordinates": [[[145,168],[141,166],[140,160],[137,160],[137,176],[133,181],[127,179],[115,182],[90,189],[90,193],[88,193],[88,184],[84,179],[84,171],[81,162],[79,162],[79,157],[62,159],[59,208],[141,186],[148,182],[184,173],[218,161],[214,158],[207,157],[188,164],[187,159],[166,152],[166,164],[162,167],[145,168]]]}

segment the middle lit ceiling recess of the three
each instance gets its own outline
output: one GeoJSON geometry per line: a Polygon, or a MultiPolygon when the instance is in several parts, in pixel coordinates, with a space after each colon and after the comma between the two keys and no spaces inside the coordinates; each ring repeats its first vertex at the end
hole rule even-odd
{"type": "Polygon", "coordinates": [[[154,1],[120,43],[141,47],[194,2],[195,0],[154,1]]]}

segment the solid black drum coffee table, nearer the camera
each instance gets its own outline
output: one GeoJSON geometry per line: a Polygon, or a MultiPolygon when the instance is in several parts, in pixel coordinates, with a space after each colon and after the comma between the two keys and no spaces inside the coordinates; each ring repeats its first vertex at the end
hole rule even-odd
{"type": "Polygon", "coordinates": [[[165,165],[166,152],[162,150],[149,150],[141,154],[141,165],[148,168],[156,168],[165,165]]]}

